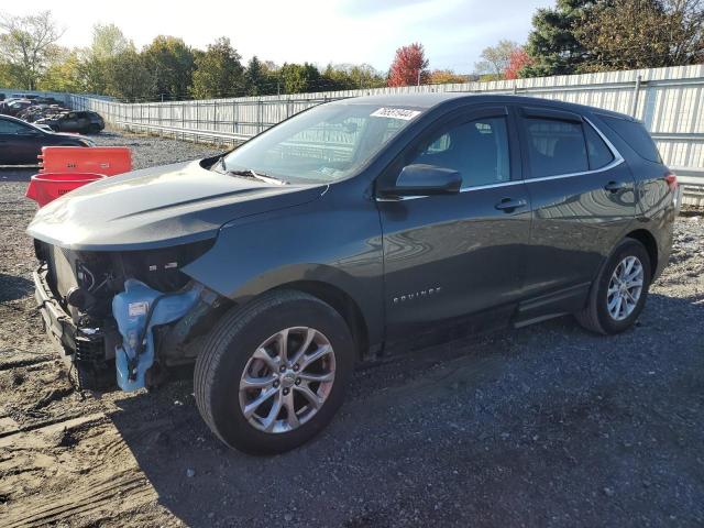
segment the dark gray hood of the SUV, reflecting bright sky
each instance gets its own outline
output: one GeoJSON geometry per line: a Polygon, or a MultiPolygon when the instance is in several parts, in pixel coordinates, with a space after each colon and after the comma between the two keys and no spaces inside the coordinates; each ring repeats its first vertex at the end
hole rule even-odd
{"type": "Polygon", "coordinates": [[[320,197],[326,185],[272,185],[187,162],[80,187],[37,211],[28,233],[76,251],[130,251],[217,237],[238,218],[320,197]]]}

